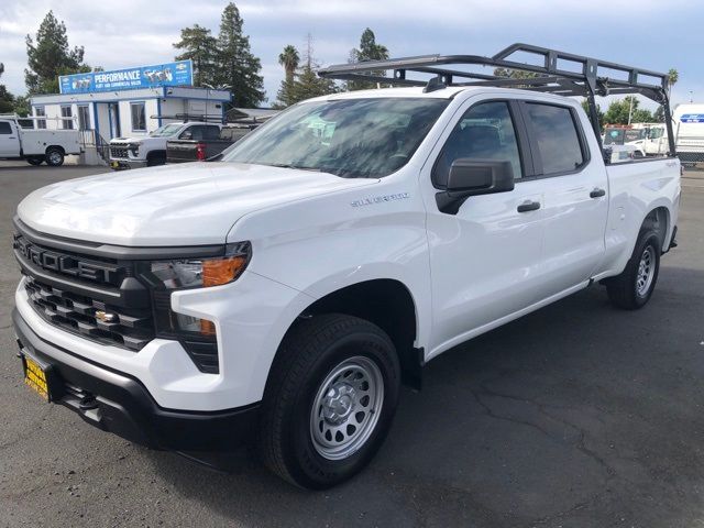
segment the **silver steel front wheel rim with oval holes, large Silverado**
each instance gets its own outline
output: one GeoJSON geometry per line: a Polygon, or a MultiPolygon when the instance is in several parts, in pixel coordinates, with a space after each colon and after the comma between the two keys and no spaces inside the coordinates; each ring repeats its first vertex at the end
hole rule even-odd
{"type": "Polygon", "coordinates": [[[310,410],[310,437],[328,460],[351,457],[376,428],[384,405],[384,378],[374,361],[354,356],[332,369],[310,410]]]}

